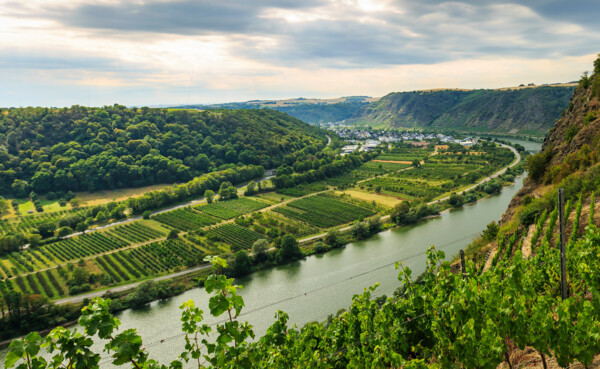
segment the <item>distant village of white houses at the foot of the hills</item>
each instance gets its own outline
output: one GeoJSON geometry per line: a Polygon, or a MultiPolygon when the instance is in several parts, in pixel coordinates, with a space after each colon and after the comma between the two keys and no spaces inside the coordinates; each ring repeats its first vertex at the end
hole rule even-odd
{"type": "Polygon", "coordinates": [[[353,130],[353,129],[335,129],[334,132],[344,138],[349,144],[342,147],[342,155],[347,155],[355,151],[372,151],[377,146],[384,142],[399,142],[409,141],[413,146],[427,147],[431,141],[440,143],[460,144],[465,147],[473,146],[477,143],[476,138],[466,137],[463,139],[455,139],[452,136],[442,133],[420,133],[420,132],[377,132],[368,130],[353,130]]]}

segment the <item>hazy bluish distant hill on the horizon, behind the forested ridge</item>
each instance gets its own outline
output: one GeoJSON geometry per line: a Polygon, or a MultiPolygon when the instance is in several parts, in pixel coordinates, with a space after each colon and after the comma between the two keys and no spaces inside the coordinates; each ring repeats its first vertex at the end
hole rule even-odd
{"type": "Polygon", "coordinates": [[[339,122],[352,118],[354,113],[376,101],[368,96],[348,96],[338,99],[252,100],[214,105],[183,105],[188,109],[273,109],[310,124],[339,122]]]}

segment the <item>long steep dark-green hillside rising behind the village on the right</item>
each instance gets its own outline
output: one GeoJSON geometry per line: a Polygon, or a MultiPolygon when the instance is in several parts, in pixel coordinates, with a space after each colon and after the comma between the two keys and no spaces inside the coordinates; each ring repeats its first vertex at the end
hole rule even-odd
{"type": "Polygon", "coordinates": [[[391,127],[544,135],[572,86],[395,92],[359,109],[352,121],[391,127]]]}

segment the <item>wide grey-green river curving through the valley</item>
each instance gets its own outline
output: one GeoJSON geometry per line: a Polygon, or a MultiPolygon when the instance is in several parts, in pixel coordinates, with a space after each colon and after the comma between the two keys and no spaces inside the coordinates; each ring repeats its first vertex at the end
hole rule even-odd
{"type": "MultiPolygon", "coordinates": [[[[526,143],[526,148],[532,151],[541,146],[515,142],[526,143]]],[[[500,218],[522,186],[523,177],[519,177],[499,195],[446,211],[440,217],[384,231],[342,249],[241,278],[236,283],[244,286],[240,294],[246,307],[240,319],[250,322],[257,336],[261,336],[273,323],[277,310],[287,312],[290,323],[300,327],[309,321],[325,320],[329,314],[348,307],[353,295],[377,282],[380,286],[375,296],[389,296],[399,287],[396,261],[410,267],[416,277],[425,270],[425,251],[429,246],[435,245],[447,258],[452,258],[488,223],[500,218]]],[[[208,312],[208,298],[203,289],[196,288],[167,301],[154,302],[145,309],[125,310],[117,317],[122,322],[121,329],[136,328],[151,357],[166,364],[183,349],[178,307],[184,301],[194,300],[208,312]]],[[[205,318],[208,324],[220,321],[211,319],[208,313],[205,318]]],[[[0,350],[2,367],[5,354],[6,350],[0,350]]],[[[101,367],[111,368],[109,361],[103,360],[101,367]]]]}

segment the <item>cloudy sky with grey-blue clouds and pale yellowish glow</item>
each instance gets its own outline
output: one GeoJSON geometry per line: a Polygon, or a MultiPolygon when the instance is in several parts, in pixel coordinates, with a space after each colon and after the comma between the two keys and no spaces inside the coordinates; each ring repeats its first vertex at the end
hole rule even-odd
{"type": "Polygon", "coordinates": [[[0,106],[573,81],[600,52],[598,14],[597,0],[0,1],[0,106]]]}

